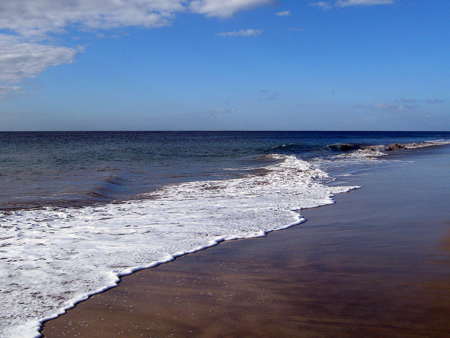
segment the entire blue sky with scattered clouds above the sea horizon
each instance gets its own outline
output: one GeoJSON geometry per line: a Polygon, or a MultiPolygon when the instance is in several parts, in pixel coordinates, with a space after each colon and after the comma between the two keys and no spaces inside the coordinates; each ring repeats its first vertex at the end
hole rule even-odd
{"type": "Polygon", "coordinates": [[[444,0],[0,0],[0,131],[450,130],[444,0]]]}

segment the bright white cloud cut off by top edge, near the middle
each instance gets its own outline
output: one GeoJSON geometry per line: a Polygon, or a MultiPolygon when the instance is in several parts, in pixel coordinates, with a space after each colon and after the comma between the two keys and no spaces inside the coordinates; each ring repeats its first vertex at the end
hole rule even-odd
{"type": "Polygon", "coordinates": [[[193,0],[189,10],[207,17],[229,18],[240,10],[271,3],[272,0],[193,0]]]}

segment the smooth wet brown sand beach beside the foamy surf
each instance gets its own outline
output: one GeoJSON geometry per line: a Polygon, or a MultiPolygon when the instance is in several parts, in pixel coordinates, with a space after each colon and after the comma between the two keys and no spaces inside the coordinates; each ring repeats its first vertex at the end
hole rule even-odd
{"type": "Polygon", "coordinates": [[[391,158],[414,162],[352,176],[302,225],[125,276],[44,337],[450,337],[450,147],[391,158]]]}

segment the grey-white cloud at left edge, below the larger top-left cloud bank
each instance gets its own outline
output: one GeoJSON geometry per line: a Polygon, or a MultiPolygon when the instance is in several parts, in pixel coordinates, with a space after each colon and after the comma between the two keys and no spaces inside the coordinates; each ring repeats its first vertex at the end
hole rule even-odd
{"type": "Polygon", "coordinates": [[[78,52],[73,48],[23,42],[17,36],[0,34],[0,82],[18,82],[35,77],[48,66],[72,63],[78,52]]]}

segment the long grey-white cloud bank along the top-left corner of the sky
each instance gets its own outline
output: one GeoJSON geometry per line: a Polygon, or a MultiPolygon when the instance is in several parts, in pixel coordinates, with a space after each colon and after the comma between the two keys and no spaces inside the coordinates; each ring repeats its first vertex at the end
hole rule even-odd
{"type": "Polygon", "coordinates": [[[160,27],[172,13],[184,11],[179,0],[0,0],[0,28],[21,36],[84,28],[160,27]]]}

